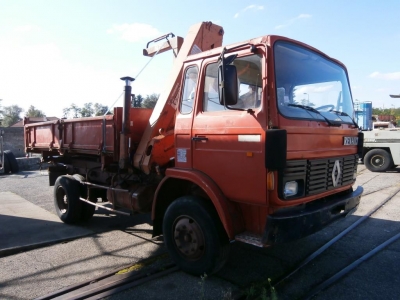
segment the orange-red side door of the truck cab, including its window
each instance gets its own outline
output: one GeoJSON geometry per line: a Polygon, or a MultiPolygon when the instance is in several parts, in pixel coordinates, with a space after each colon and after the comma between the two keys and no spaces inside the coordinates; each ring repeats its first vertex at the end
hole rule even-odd
{"type": "Polygon", "coordinates": [[[191,132],[193,168],[211,177],[227,198],[265,205],[262,57],[238,58],[234,64],[240,90],[233,107],[242,110],[220,105],[218,64],[205,64],[191,132]]]}

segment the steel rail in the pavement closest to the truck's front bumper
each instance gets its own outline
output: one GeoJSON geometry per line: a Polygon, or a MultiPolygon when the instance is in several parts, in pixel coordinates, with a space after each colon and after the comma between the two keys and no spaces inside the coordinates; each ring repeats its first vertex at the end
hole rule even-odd
{"type": "Polygon", "coordinates": [[[336,243],[339,239],[341,239],[343,236],[345,236],[347,233],[349,233],[351,230],[356,228],[358,225],[363,223],[365,220],[367,220],[373,213],[375,213],[378,209],[380,209],[383,205],[385,205],[390,199],[392,199],[396,194],[400,192],[400,187],[397,188],[395,192],[393,192],[391,195],[386,197],[381,203],[376,205],[373,209],[371,209],[366,215],[362,216],[360,219],[358,219],[356,222],[354,222],[351,226],[347,227],[345,230],[343,230],[341,233],[336,235],[334,238],[332,238],[330,241],[328,241],[326,244],[324,244],[321,248],[313,252],[311,255],[309,255],[305,260],[303,260],[293,271],[291,271],[289,274],[284,275],[280,279],[278,279],[276,282],[273,283],[273,286],[276,287],[277,285],[281,284],[284,282],[286,279],[289,277],[293,276],[295,273],[297,273],[300,269],[302,269],[304,266],[306,266],[309,262],[313,261],[317,256],[319,256],[321,253],[323,253],[325,250],[327,250],[329,247],[331,247],[334,243],[336,243]]]}

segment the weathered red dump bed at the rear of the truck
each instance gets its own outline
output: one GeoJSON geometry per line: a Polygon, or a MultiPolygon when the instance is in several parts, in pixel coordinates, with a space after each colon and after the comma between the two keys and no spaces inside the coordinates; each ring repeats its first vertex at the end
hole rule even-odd
{"type": "MultiPolygon", "coordinates": [[[[147,126],[152,109],[131,108],[129,137],[139,143],[147,126]]],[[[118,160],[119,132],[122,128],[122,108],[113,115],[100,117],[59,119],[32,123],[25,120],[25,151],[33,153],[106,154],[118,160]]]]}

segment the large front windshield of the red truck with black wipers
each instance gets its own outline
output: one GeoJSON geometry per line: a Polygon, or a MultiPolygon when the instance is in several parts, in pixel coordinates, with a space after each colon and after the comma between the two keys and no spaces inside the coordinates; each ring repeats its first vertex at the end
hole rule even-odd
{"type": "Polygon", "coordinates": [[[274,57],[276,99],[283,116],[353,124],[347,74],[339,64],[283,41],[275,43],[274,57]]]}

